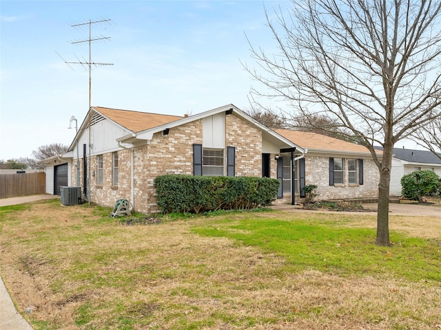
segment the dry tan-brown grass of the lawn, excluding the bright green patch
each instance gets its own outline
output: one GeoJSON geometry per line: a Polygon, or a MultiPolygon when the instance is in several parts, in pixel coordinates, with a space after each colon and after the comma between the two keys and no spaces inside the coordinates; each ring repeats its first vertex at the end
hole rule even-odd
{"type": "MultiPolygon", "coordinates": [[[[19,311],[36,307],[25,314],[35,329],[441,329],[440,283],[295,272],[279,256],[194,234],[205,218],[121,226],[91,211],[33,203],[1,225],[1,276],[19,311]]],[[[276,215],[293,217],[256,214],[276,215]]],[[[320,217],[375,225],[367,214],[320,217]]],[[[430,236],[422,221],[440,229],[439,219],[394,216],[391,228],[430,236]]]]}

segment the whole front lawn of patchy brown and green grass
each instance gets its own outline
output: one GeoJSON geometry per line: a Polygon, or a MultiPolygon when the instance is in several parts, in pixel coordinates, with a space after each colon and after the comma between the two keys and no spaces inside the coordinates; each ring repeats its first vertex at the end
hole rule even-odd
{"type": "Polygon", "coordinates": [[[392,232],[393,245],[378,247],[375,214],[121,225],[110,212],[57,200],[0,208],[1,276],[34,329],[441,325],[441,239],[392,232]]]}

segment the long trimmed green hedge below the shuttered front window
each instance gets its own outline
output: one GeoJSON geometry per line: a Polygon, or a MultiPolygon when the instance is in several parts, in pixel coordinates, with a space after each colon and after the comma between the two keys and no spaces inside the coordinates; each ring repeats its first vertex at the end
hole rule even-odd
{"type": "Polygon", "coordinates": [[[276,200],[280,183],[267,177],[161,175],[154,185],[161,212],[197,214],[267,206],[276,200]]]}

